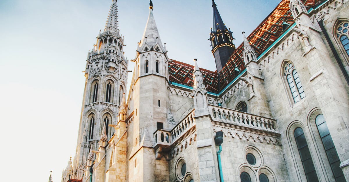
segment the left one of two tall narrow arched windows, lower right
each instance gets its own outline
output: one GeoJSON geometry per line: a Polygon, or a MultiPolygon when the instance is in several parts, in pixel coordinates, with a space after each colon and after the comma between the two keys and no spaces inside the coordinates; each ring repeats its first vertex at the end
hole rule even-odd
{"type": "Polygon", "coordinates": [[[308,182],[318,182],[318,176],[316,175],[313,160],[310,155],[309,147],[305,139],[305,135],[302,128],[296,128],[294,132],[300,160],[304,173],[308,182]]]}

